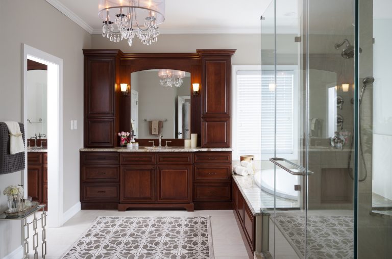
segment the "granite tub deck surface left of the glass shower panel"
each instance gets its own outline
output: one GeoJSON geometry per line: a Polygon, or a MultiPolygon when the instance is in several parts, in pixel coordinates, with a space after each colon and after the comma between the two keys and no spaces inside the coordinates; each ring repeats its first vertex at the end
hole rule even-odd
{"type": "Polygon", "coordinates": [[[248,204],[253,216],[262,216],[261,211],[261,189],[256,185],[254,175],[242,176],[233,174],[234,182],[241,192],[245,202],[248,204]]]}

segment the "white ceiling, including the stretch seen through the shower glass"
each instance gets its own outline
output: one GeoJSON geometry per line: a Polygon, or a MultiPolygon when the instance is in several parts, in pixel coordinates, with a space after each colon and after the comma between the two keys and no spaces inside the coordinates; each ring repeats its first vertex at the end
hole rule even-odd
{"type": "MultiPolygon", "coordinates": [[[[390,0],[373,0],[373,18],[391,18],[390,0]]],[[[102,34],[99,0],[46,0],[91,34],[102,34]]],[[[302,13],[298,0],[166,0],[161,33],[274,33],[300,34],[302,13]],[[260,26],[260,16],[264,17],[260,26]],[[276,19],[274,18],[276,16],[276,19]]],[[[349,35],[354,33],[353,0],[311,0],[309,33],[349,35]],[[338,7],[338,8],[337,8],[338,7]],[[326,26],[326,24],[328,24],[326,26]]],[[[371,15],[371,14],[370,14],[371,15]]]]}

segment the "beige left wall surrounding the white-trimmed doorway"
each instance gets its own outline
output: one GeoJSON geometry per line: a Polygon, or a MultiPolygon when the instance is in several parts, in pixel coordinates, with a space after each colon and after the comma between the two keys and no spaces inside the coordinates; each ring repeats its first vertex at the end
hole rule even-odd
{"type": "MultiPolygon", "coordinates": [[[[44,0],[0,2],[0,121],[21,121],[21,44],[63,59],[64,212],[79,201],[79,151],[83,146],[83,53],[91,36],[44,0]],[[17,13],[17,17],[15,17],[17,13]],[[50,21],[50,22],[47,22],[50,21]],[[57,33],[53,33],[57,32],[57,33]],[[69,121],[78,120],[78,130],[69,121]],[[75,188],[78,187],[78,188],[75,188]]],[[[50,136],[48,136],[50,141],[50,136]]],[[[20,172],[0,175],[0,211],[6,209],[3,190],[20,184],[20,172]]],[[[20,222],[0,223],[0,258],[21,244],[20,222]],[[7,238],[5,238],[7,237],[7,238]]]]}

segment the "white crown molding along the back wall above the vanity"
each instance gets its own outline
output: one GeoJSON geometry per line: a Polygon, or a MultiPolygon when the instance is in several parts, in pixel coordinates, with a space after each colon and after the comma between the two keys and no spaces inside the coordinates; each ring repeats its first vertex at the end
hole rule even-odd
{"type": "MultiPolygon", "coordinates": [[[[260,29],[159,29],[159,32],[160,34],[260,34],[260,29]]],[[[102,29],[94,29],[91,34],[102,34],[102,29]]]]}

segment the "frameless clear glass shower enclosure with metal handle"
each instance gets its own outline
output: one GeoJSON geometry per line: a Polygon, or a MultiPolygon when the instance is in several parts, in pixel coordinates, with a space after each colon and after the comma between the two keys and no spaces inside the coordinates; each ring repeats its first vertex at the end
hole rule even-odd
{"type": "Polygon", "coordinates": [[[273,0],[261,17],[266,257],[392,254],[389,2],[273,0]]]}

